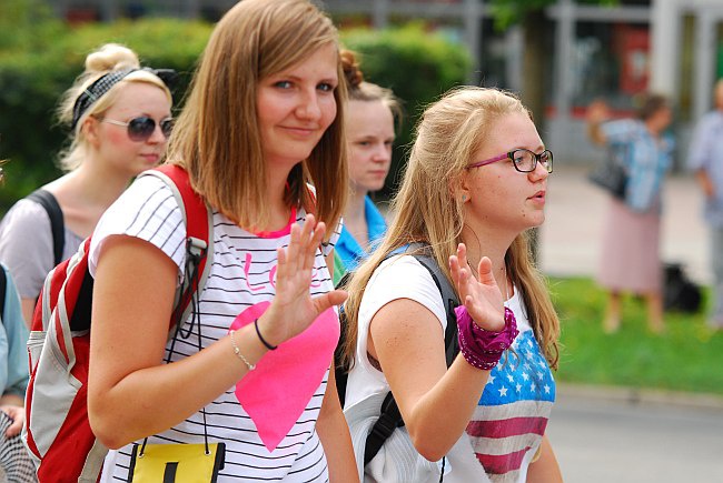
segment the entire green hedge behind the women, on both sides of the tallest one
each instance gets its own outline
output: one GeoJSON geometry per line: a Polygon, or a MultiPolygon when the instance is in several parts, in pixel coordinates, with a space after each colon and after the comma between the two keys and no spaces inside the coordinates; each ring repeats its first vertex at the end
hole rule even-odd
{"type": "MultiPolygon", "coordinates": [[[[138,52],[145,66],[176,69],[181,76],[174,95],[180,107],[212,29],[200,21],[158,18],[73,28],[42,13],[7,14],[3,8],[7,7],[0,7],[0,14],[6,14],[0,20],[0,159],[9,162],[4,165],[8,181],[0,190],[2,212],[18,198],[61,174],[56,161],[67,141],[67,129],[58,125],[55,110],[62,92],[82,71],[89,52],[107,42],[120,42],[138,52]],[[24,33],[29,24],[30,36],[24,33]],[[9,30],[18,30],[18,36],[9,30]]],[[[343,41],[360,53],[368,80],[394,89],[403,100],[408,115],[398,147],[408,142],[419,108],[464,82],[471,66],[463,47],[428,34],[420,26],[354,30],[344,32],[343,41]]],[[[399,169],[402,158],[403,149],[398,148],[395,170],[399,169]]],[[[389,181],[387,191],[393,184],[389,181]]]]}

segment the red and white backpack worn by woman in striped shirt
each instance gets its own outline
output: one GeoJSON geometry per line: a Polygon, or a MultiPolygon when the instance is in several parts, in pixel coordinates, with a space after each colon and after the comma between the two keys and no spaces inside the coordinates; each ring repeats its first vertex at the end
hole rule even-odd
{"type": "MultiPolygon", "coordinates": [[[[211,263],[212,220],[179,167],[162,165],[140,175],[162,179],[184,211],[187,263],[169,332],[185,320],[202,290],[211,263]]],[[[30,383],[22,437],[40,482],[96,482],[108,449],[88,422],[88,356],[93,279],[88,272],[90,238],[46,278],[32,318],[28,352],[30,383]]]]}

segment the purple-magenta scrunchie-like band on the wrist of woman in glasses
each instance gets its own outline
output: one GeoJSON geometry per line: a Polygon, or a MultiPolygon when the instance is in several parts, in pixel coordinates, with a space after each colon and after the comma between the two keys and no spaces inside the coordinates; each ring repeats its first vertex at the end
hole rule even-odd
{"type": "Polygon", "coordinates": [[[455,309],[459,352],[472,366],[491,371],[499,362],[503,352],[512,345],[519,333],[515,314],[505,308],[505,326],[499,332],[479,328],[464,305],[455,309]]]}

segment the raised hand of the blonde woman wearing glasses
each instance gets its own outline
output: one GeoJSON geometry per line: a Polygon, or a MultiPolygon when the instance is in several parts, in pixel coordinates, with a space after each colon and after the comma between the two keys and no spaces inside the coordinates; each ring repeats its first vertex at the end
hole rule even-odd
{"type": "Polygon", "coordinates": [[[457,254],[449,256],[449,269],[465,305],[475,324],[487,331],[501,331],[505,326],[504,298],[492,272],[492,261],[487,256],[479,260],[477,278],[467,264],[467,248],[457,246],[457,254]]]}

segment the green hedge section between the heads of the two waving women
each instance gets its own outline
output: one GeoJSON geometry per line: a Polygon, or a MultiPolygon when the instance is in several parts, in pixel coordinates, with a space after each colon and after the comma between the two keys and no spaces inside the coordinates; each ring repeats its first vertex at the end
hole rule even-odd
{"type": "Polygon", "coordinates": [[[365,79],[392,89],[403,101],[405,119],[383,193],[388,195],[397,184],[419,114],[442,93],[465,82],[472,58],[466,47],[426,32],[422,24],[382,31],[354,29],[343,32],[341,40],[358,54],[365,79]]]}

